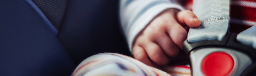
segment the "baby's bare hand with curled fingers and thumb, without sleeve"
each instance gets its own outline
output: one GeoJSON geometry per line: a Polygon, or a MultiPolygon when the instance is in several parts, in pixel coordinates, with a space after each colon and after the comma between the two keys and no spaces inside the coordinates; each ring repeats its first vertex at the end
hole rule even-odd
{"type": "Polygon", "coordinates": [[[153,67],[168,64],[168,56],[176,56],[183,49],[183,42],[187,39],[185,27],[200,24],[196,15],[189,10],[171,8],[162,11],[134,39],[135,59],[153,67]]]}

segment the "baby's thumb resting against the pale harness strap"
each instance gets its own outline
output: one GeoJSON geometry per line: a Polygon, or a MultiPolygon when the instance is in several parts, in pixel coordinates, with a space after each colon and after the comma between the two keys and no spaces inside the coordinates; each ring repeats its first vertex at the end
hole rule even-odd
{"type": "Polygon", "coordinates": [[[179,23],[186,24],[189,27],[198,27],[201,24],[197,16],[189,10],[178,12],[176,17],[179,23]]]}

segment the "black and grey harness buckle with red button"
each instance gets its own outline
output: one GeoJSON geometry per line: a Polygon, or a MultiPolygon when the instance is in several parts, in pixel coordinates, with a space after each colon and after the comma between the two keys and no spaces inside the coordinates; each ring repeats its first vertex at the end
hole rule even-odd
{"type": "Polygon", "coordinates": [[[256,69],[256,49],[227,33],[222,41],[183,43],[193,76],[244,76],[256,69]]]}

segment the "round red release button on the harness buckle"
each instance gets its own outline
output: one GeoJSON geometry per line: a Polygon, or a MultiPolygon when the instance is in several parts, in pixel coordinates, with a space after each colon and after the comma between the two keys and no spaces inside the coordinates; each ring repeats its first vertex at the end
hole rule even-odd
{"type": "Polygon", "coordinates": [[[225,52],[213,52],[204,57],[201,70],[207,76],[226,76],[234,67],[232,56],[225,52]]]}

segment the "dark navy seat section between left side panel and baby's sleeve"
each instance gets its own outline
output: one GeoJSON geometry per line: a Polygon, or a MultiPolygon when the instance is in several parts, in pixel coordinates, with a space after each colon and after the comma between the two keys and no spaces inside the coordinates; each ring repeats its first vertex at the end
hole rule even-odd
{"type": "Polygon", "coordinates": [[[69,0],[58,39],[76,65],[103,52],[130,55],[119,28],[119,0],[69,0]]]}

